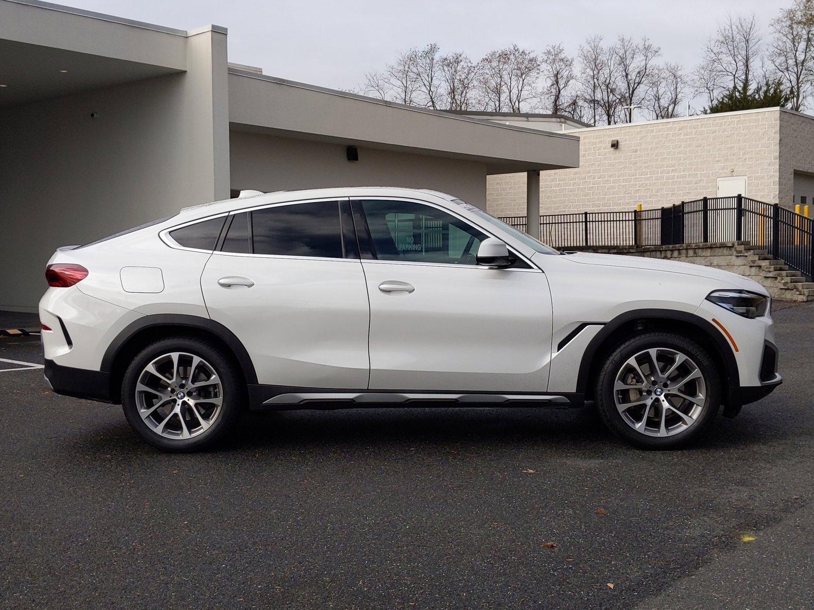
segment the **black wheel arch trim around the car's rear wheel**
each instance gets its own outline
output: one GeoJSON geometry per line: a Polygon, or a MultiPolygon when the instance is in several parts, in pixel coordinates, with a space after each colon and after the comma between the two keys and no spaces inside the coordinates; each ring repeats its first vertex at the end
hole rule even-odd
{"type": "Polygon", "coordinates": [[[174,313],[160,313],[143,316],[138,320],[131,322],[122,330],[115,339],[107,346],[107,351],[102,359],[101,370],[106,373],[111,373],[113,360],[116,355],[134,335],[144,329],[159,328],[161,326],[182,326],[190,329],[205,330],[208,333],[214,334],[217,338],[221,339],[238,359],[240,368],[243,371],[243,377],[246,379],[247,384],[257,383],[257,373],[255,372],[252,359],[249,357],[248,351],[243,346],[243,343],[237,338],[230,329],[227,329],[220,322],[204,318],[201,316],[190,316],[186,314],[174,313]]]}

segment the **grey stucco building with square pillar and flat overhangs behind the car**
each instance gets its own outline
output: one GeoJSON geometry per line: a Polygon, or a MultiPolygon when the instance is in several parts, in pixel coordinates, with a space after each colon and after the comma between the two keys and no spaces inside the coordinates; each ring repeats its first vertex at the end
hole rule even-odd
{"type": "Polygon", "coordinates": [[[35,311],[57,247],[235,190],[391,185],[485,207],[489,175],[579,164],[575,136],[285,81],[230,63],[226,41],[0,0],[0,309],[35,311]]]}

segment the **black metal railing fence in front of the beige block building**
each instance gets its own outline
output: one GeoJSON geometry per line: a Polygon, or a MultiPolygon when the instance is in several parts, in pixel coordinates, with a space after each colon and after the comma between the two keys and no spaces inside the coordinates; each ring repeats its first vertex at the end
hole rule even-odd
{"type": "MultiPolygon", "coordinates": [[[[526,230],[526,216],[501,220],[526,230]]],[[[814,219],[741,195],[652,210],[546,214],[540,216],[540,237],[555,248],[746,241],[808,276],[814,271],[814,219]]]]}

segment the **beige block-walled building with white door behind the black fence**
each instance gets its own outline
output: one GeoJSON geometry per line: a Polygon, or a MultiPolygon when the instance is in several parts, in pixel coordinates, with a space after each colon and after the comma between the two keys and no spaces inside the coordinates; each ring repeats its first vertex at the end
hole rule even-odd
{"type": "MultiPolygon", "coordinates": [[[[799,112],[766,108],[567,133],[580,137],[580,167],[540,175],[542,214],[738,193],[786,207],[814,203],[814,117],[799,112]]],[[[488,211],[524,216],[526,189],[525,174],[489,176],[488,211]]]]}

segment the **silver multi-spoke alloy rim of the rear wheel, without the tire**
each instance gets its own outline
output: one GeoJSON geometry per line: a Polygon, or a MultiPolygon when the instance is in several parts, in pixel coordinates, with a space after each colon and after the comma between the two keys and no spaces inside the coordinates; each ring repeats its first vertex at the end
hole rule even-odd
{"type": "Polygon", "coordinates": [[[136,383],[136,405],[138,415],[155,434],[193,438],[206,432],[220,415],[223,386],[206,360],[174,351],[144,367],[136,383]]]}

